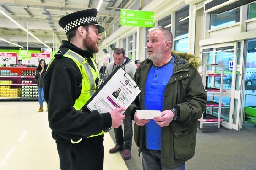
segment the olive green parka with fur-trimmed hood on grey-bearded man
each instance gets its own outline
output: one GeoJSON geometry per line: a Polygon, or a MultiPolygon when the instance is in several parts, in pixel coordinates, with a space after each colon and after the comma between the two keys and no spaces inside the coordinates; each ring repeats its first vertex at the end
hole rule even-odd
{"type": "MultiPolygon", "coordinates": [[[[187,60],[172,54],[175,58],[174,72],[165,87],[163,110],[177,107],[180,113],[178,120],[162,128],[161,161],[169,168],[174,168],[191,159],[195,154],[197,119],[206,108],[206,92],[202,78],[194,66],[199,66],[199,58],[187,60]],[[198,64],[195,64],[198,63],[198,64]]],[[[128,115],[134,120],[136,109],[145,109],[145,85],[147,74],[153,65],[149,59],[142,61],[136,70],[134,80],[141,93],[128,108],[128,115]]],[[[145,147],[145,126],[134,124],[134,140],[139,147],[139,154],[145,147]]]]}

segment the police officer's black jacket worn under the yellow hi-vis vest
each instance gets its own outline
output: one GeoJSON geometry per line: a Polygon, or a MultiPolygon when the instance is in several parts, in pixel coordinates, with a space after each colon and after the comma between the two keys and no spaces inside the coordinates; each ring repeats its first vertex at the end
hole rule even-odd
{"type": "MultiPolygon", "coordinates": [[[[103,141],[103,136],[87,138],[90,135],[101,133],[112,124],[110,113],[100,114],[86,107],[75,110],[73,107],[80,96],[82,74],[77,65],[70,58],[62,57],[68,50],[87,58],[89,65],[93,55],[89,51],[77,48],[73,44],[63,41],[56,59],[48,66],[44,75],[44,98],[48,103],[48,121],[52,129],[52,136],[56,143],[70,143],[70,139],[83,138],[81,143],[92,140],[103,141]]],[[[95,68],[94,68],[95,69],[95,68]]],[[[95,141],[94,141],[95,142],[95,141]]]]}

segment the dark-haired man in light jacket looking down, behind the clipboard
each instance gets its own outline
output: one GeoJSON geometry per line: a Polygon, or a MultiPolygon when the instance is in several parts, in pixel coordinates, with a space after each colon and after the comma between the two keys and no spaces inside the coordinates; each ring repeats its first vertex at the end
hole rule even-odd
{"type": "MultiPolygon", "coordinates": [[[[117,66],[121,66],[131,78],[137,69],[136,65],[130,58],[125,57],[125,50],[123,48],[115,48],[113,54],[114,61],[110,62],[107,66],[106,74],[109,76],[117,66]]],[[[131,140],[132,140],[132,120],[126,117],[123,121],[124,132],[122,126],[114,128],[116,145],[109,150],[109,153],[116,153],[120,150],[124,150],[123,158],[125,160],[131,159],[131,140]]]]}

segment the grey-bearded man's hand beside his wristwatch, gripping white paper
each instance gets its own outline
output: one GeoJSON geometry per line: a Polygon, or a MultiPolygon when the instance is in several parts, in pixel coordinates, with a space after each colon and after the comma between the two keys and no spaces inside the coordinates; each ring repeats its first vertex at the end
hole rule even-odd
{"type": "Polygon", "coordinates": [[[174,114],[171,110],[165,110],[163,112],[161,112],[161,116],[160,117],[155,117],[154,121],[156,121],[156,123],[161,126],[168,126],[170,124],[170,122],[173,120],[174,114]]]}

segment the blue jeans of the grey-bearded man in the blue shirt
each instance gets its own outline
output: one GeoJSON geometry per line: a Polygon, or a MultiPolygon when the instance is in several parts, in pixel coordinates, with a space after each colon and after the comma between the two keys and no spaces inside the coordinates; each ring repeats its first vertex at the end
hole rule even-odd
{"type": "Polygon", "coordinates": [[[142,167],[143,170],[185,170],[185,163],[169,169],[161,164],[161,150],[142,150],[142,167]]]}

